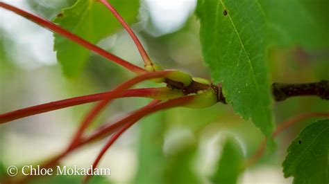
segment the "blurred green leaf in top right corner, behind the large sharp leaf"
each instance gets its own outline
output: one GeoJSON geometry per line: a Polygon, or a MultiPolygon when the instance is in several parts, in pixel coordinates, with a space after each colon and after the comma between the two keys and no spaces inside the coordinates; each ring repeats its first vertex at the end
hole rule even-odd
{"type": "Polygon", "coordinates": [[[329,1],[260,0],[260,4],[267,17],[272,44],[304,48],[329,46],[329,1]]]}

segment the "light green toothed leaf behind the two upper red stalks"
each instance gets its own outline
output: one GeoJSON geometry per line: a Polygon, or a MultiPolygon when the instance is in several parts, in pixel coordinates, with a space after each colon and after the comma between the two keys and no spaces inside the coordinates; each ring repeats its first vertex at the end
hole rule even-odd
{"type": "MultiPolygon", "coordinates": [[[[128,23],[135,21],[139,6],[137,0],[113,0],[110,3],[128,23]]],[[[93,44],[121,28],[110,10],[96,0],[78,0],[74,6],[63,9],[53,21],[93,44]]],[[[74,77],[81,73],[90,51],[58,34],[54,37],[54,50],[65,75],[74,77]]]]}

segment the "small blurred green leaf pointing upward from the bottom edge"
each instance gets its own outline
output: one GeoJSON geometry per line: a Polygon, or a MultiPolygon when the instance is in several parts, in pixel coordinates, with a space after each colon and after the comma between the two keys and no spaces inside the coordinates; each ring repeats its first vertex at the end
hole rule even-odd
{"type": "Polygon", "coordinates": [[[244,156],[241,145],[234,138],[228,138],[222,152],[218,167],[211,178],[212,183],[237,183],[239,174],[243,171],[244,156]]]}

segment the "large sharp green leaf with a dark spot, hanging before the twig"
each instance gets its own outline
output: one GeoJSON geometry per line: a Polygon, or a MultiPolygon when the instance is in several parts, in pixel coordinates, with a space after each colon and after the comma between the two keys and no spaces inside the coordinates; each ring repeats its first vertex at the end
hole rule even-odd
{"type": "Polygon", "coordinates": [[[235,112],[251,118],[269,136],[273,131],[271,93],[265,52],[267,27],[256,1],[201,0],[203,58],[214,82],[223,82],[223,94],[235,112]]]}

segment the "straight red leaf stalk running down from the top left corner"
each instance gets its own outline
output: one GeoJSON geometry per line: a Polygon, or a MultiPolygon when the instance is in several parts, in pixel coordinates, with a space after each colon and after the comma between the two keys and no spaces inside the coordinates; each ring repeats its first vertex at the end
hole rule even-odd
{"type": "Polygon", "coordinates": [[[67,37],[68,39],[71,39],[71,41],[75,42],[76,44],[79,44],[89,50],[94,51],[94,53],[97,53],[106,59],[109,59],[124,68],[127,68],[129,71],[132,71],[136,74],[145,73],[146,71],[144,68],[140,68],[139,66],[135,66],[134,64],[130,64],[129,62],[126,62],[124,59],[121,59],[120,57],[117,57],[116,55],[112,55],[111,53],[108,53],[106,50],[103,50],[103,48],[100,48],[99,46],[96,46],[90,42],[87,42],[87,40],[78,37],[77,35],[74,35],[73,33],[70,33],[69,31],[61,28],[60,26],[57,26],[56,24],[53,24],[51,21],[48,21],[47,19],[44,19],[42,17],[37,17],[36,15],[33,15],[29,12],[26,12],[24,10],[21,10],[19,8],[16,8],[15,6],[10,6],[7,3],[0,2],[0,7],[5,8],[7,10],[10,10],[12,12],[15,12],[18,15],[21,15],[22,17],[25,17],[26,19],[29,19],[36,24],[48,28],[49,30],[58,33],[62,35],[63,37],[67,37]]]}

